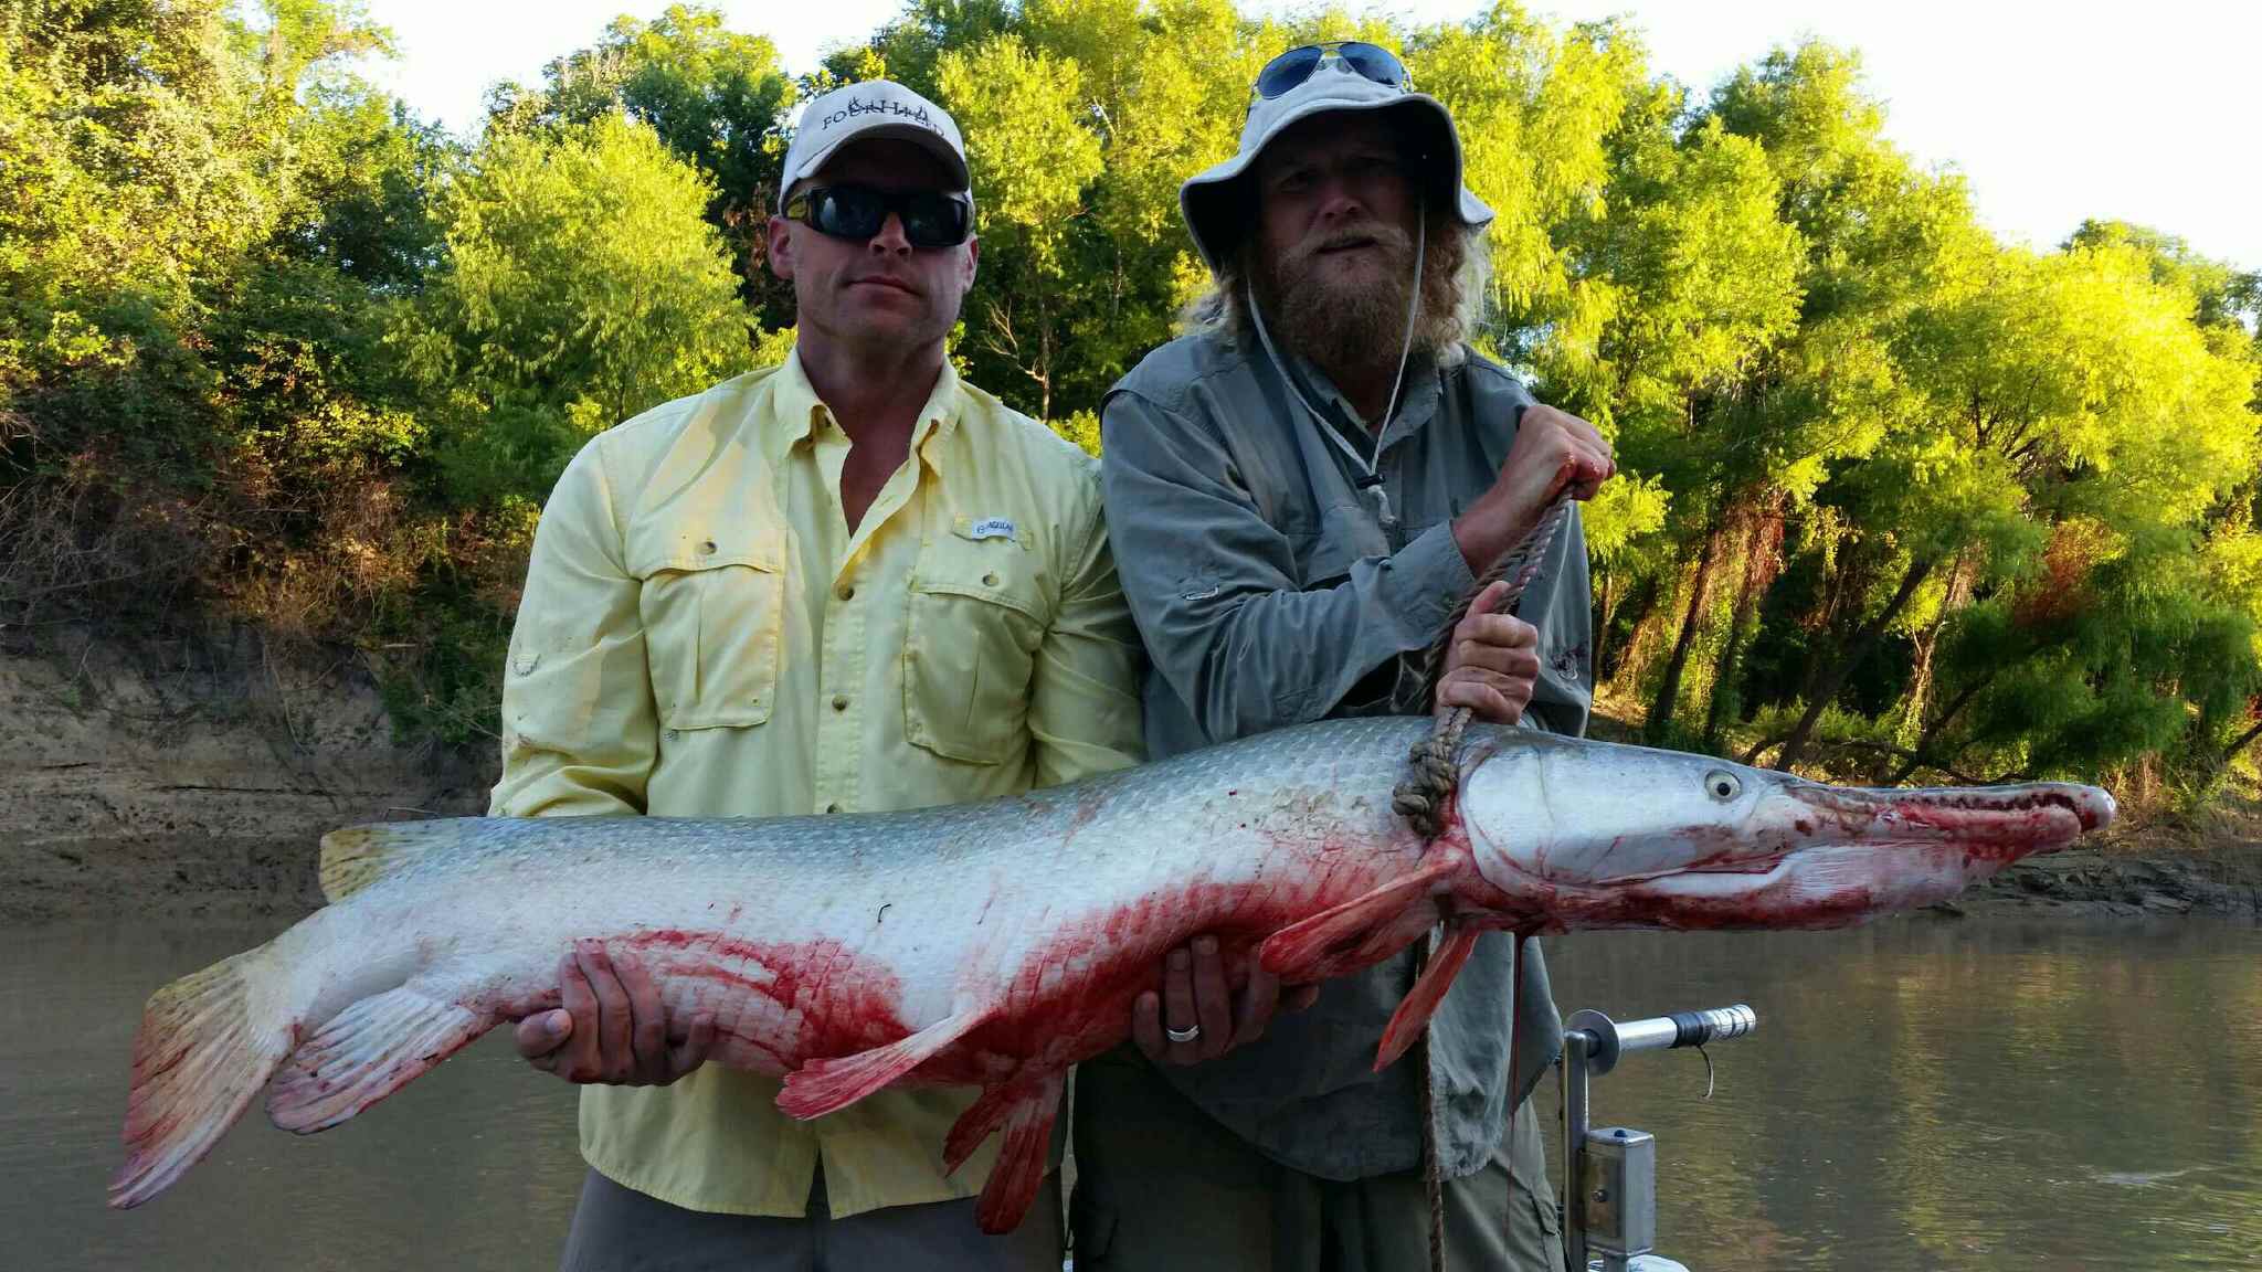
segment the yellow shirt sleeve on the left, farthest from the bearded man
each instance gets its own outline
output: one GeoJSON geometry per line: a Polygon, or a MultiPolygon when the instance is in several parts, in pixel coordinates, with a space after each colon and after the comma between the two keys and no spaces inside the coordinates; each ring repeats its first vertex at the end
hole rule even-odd
{"type": "Polygon", "coordinates": [[[640,579],[622,564],[604,437],[543,507],[502,679],[495,817],[633,815],[658,758],[640,579]]]}

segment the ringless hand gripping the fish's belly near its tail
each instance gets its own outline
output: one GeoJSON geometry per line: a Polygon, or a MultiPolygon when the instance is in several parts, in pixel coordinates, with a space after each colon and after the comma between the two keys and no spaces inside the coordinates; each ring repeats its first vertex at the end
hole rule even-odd
{"type": "Polygon", "coordinates": [[[556,1009],[518,1021],[516,1041],[534,1068],[566,1082],[667,1086],[706,1064],[715,1046],[713,1012],[672,1032],[651,976],[599,942],[575,942],[559,960],[559,998],[556,1009]]]}

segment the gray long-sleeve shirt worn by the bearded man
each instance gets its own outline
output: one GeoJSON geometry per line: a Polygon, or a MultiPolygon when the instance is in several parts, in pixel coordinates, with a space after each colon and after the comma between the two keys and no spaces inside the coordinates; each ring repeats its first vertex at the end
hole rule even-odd
{"type": "MultiPolygon", "coordinates": [[[[1409,367],[1375,439],[1326,378],[1224,333],[1149,353],[1102,407],[1108,536],[1147,643],[1154,758],[1330,715],[1425,715],[1421,665],[1475,584],[1452,518],[1500,473],[1531,403],[1468,355],[1409,367]],[[1298,405],[1285,376],[1328,412],[1298,405]],[[1337,430],[1337,437],[1321,432],[1337,430]],[[1373,457],[1373,478],[1353,455],[1373,457]],[[1364,484],[1362,484],[1364,482],[1364,484]]],[[[1527,724],[1583,733],[1592,704],[1586,539],[1572,523],[1518,607],[1540,629],[1527,724]]],[[[1511,942],[1486,935],[1432,1021],[1445,1175],[1484,1166],[1509,1111],[1511,1003],[1518,1102],[1561,1050],[1538,944],[1511,994],[1511,942]]],[[[1421,1166],[1411,1064],[1373,1073],[1375,1043],[1411,987],[1405,953],[1332,980],[1303,1014],[1215,1062],[1167,1068],[1199,1107],[1276,1161],[1326,1179],[1421,1166]]]]}

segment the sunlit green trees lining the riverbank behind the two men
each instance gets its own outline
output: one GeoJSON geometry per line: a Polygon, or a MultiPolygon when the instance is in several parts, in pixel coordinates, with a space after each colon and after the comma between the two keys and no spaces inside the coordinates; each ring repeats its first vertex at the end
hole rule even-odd
{"type": "MultiPolygon", "coordinates": [[[[1875,781],[2129,776],[2262,736],[2262,274],[2083,222],[2004,249],[1859,59],[1651,75],[1622,20],[912,0],[789,77],[703,7],[491,93],[357,79],[323,0],[0,11],[0,609],[351,641],[403,738],[484,745],[538,505],[595,430],[792,346],[762,224],[796,102],[961,122],[975,383],[1097,450],[1206,272],[1179,183],[1289,43],[1402,52],[1495,210],[1477,342],[1597,421],[1597,668],[1654,736],[1875,781]]],[[[1758,50],[1755,50],[1758,52],[1758,50]]]]}

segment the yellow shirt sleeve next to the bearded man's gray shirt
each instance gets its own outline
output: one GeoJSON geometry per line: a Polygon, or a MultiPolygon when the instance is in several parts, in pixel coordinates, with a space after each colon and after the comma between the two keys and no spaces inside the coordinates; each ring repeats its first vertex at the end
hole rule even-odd
{"type": "Polygon", "coordinates": [[[1036,650],[1031,677],[1036,785],[1077,781],[1145,758],[1138,629],[1115,577],[1097,491],[1081,507],[1090,516],[1081,527],[1068,530],[1061,604],[1036,650]]]}

